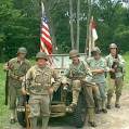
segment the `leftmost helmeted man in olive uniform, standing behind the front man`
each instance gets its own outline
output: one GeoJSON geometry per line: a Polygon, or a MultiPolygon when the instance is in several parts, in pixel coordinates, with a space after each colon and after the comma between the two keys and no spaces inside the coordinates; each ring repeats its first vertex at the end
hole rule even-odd
{"type": "MultiPolygon", "coordinates": [[[[4,69],[9,70],[9,96],[11,109],[11,124],[16,120],[16,100],[22,101],[22,80],[27,70],[30,68],[29,61],[25,59],[26,48],[18,48],[17,57],[10,60],[4,69]]],[[[21,102],[20,102],[21,103],[21,102]]]]}

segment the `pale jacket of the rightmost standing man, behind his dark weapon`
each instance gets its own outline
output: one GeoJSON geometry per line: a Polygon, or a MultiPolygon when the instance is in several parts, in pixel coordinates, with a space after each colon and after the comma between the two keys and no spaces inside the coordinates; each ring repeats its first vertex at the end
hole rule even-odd
{"type": "MultiPolygon", "coordinates": [[[[124,72],[125,72],[125,60],[124,60],[124,57],[118,54],[118,57],[117,59],[118,59],[118,64],[117,64],[118,65],[118,70],[115,73],[116,78],[117,77],[122,77],[124,76],[124,72]]],[[[106,63],[107,63],[107,67],[108,68],[112,68],[112,65],[114,63],[115,57],[113,57],[109,54],[109,55],[107,55],[105,57],[105,60],[106,60],[106,63]]]]}

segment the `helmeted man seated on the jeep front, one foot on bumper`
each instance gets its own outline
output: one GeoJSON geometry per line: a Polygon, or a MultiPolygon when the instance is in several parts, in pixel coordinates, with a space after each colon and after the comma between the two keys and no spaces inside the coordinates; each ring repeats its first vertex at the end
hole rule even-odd
{"type": "Polygon", "coordinates": [[[77,50],[72,50],[69,52],[69,59],[72,59],[73,63],[69,65],[69,69],[65,74],[65,76],[70,80],[73,90],[73,102],[69,105],[69,111],[75,109],[81,86],[85,82],[83,92],[86,94],[86,101],[88,104],[89,124],[90,126],[95,127],[96,125],[94,122],[94,101],[92,95],[93,83],[89,82],[89,85],[86,86],[86,83],[91,80],[92,74],[88,68],[88,65],[79,60],[79,54],[77,50]]]}

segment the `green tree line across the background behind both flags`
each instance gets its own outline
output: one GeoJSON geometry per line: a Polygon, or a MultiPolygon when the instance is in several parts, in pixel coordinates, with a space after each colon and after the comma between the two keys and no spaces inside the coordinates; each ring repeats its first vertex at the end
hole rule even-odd
{"type": "MultiPolygon", "coordinates": [[[[42,1],[49,17],[52,42],[54,48],[57,48],[56,52],[67,53],[72,49],[70,22],[75,39],[79,23],[79,50],[85,52],[88,0],[42,1]],[[70,17],[70,3],[73,3],[73,17],[70,17]]],[[[96,44],[105,52],[111,42],[116,42],[122,53],[127,52],[129,9],[122,8],[117,0],[93,0],[91,5],[91,14],[94,16],[99,35],[96,44]]],[[[0,0],[0,61],[14,56],[18,47],[26,47],[29,57],[35,56],[40,44],[40,0],[0,0]]]]}

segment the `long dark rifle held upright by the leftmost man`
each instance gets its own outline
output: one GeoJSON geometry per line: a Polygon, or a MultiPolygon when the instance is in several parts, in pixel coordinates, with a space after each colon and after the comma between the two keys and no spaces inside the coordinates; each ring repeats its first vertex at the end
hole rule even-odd
{"type": "MultiPolygon", "coordinates": [[[[9,62],[8,62],[9,66],[9,62]]],[[[5,78],[5,101],[4,104],[8,105],[8,98],[9,98],[9,69],[7,70],[7,78],[5,78]]]]}

